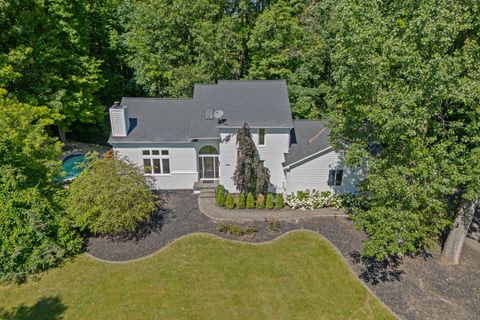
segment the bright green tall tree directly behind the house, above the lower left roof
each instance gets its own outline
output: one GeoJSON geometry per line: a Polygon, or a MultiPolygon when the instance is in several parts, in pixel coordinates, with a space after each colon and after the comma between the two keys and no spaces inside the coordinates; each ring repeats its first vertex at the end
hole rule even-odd
{"type": "Polygon", "coordinates": [[[241,41],[231,4],[217,0],[128,1],[121,45],[150,95],[181,97],[194,82],[238,76],[241,41]]]}

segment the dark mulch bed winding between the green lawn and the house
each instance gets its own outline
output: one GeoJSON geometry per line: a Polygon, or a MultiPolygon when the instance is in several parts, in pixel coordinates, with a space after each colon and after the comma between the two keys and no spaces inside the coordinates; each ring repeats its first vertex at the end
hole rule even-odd
{"type": "MultiPolygon", "coordinates": [[[[125,261],[156,252],[175,239],[207,232],[227,239],[264,242],[297,229],[319,232],[342,253],[355,273],[397,315],[404,319],[478,319],[480,315],[480,251],[465,246],[457,267],[438,263],[438,251],[425,256],[407,257],[390,264],[362,259],[359,250],[366,239],[362,232],[342,217],[300,219],[280,222],[272,231],[268,221],[235,223],[253,226],[253,235],[233,236],[218,231],[218,224],[198,209],[191,191],[162,193],[165,204],[140,232],[129,238],[92,237],[87,252],[110,261],[125,261]]],[[[321,266],[319,266],[321,267],[321,266]]]]}

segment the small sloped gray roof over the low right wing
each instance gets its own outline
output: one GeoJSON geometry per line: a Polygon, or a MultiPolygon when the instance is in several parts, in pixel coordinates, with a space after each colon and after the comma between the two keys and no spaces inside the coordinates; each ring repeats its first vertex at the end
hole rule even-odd
{"type": "Polygon", "coordinates": [[[330,147],[330,129],[320,120],[293,120],[290,131],[290,152],[285,154],[284,166],[305,159],[330,147]]]}

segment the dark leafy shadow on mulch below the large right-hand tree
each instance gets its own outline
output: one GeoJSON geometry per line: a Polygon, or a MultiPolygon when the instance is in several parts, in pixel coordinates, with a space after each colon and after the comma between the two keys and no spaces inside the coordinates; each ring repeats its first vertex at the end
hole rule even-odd
{"type": "Polygon", "coordinates": [[[374,258],[363,257],[360,252],[350,253],[354,264],[361,264],[360,278],[365,282],[377,285],[380,282],[400,281],[403,270],[401,259],[393,257],[384,261],[377,261],[374,258]]]}

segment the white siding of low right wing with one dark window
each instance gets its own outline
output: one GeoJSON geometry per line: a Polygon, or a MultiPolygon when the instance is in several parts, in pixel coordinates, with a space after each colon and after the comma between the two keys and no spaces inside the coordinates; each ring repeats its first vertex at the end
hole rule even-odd
{"type": "Polygon", "coordinates": [[[305,189],[331,191],[337,193],[355,192],[356,184],[362,179],[364,173],[361,168],[349,169],[342,165],[340,155],[327,151],[317,157],[294,165],[286,172],[287,194],[305,189]],[[343,169],[341,186],[328,185],[328,172],[330,169],[343,169]]]}

